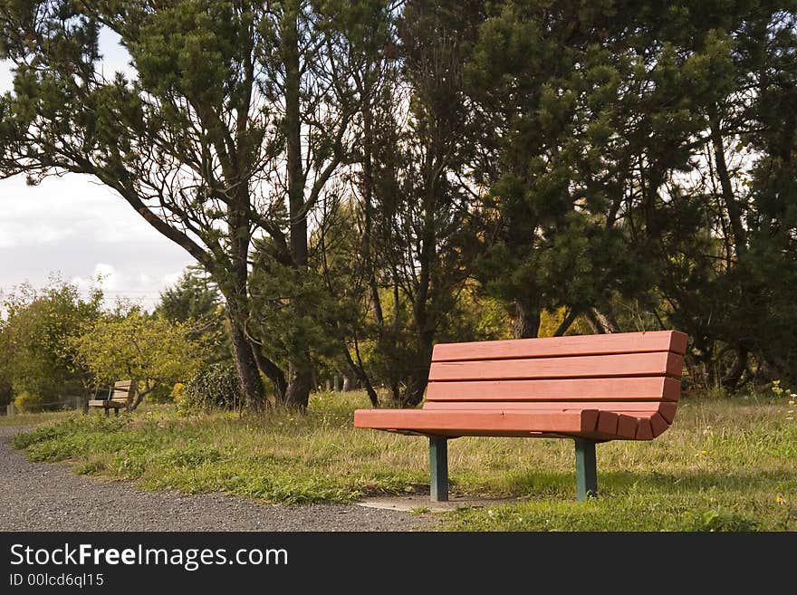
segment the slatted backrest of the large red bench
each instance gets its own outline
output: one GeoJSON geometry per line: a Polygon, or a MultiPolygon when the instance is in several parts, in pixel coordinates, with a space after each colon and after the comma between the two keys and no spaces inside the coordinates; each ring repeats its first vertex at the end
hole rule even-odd
{"type": "Polygon", "coordinates": [[[441,343],[424,408],[599,409],[631,416],[630,437],[648,433],[631,427],[640,416],[656,435],[656,424],[675,416],[686,349],[678,331],[441,343]]]}

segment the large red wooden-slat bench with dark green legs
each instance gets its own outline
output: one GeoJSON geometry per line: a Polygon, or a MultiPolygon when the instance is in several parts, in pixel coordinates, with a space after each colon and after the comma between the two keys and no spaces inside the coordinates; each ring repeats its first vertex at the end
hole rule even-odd
{"type": "Polygon", "coordinates": [[[583,500],[598,494],[597,443],[670,426],[686,350],[678,331],[438,344],[423,408],[358,409],[354,426],[427,436],[433,501],[448,499],[449,438],[572,438],[583,500]]]}

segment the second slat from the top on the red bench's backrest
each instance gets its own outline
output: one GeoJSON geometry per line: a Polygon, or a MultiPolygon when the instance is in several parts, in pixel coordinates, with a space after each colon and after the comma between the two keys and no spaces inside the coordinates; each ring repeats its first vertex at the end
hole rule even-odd
{"type": "Polygon", "coordinates": [[[495,380],[679,376],[684,356],[671,351],[532,360],[435,362],[429,380],[495,380]]]}

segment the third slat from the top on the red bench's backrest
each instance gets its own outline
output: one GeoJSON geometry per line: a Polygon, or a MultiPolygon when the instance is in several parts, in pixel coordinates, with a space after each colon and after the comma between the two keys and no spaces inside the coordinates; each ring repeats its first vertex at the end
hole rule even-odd
{"type": "Polygon", "coordinates": [[[475,380],[429,382],[429,401],[672,400],[681,393],[677,379],[663,376],[610,379],[475,380]]]}

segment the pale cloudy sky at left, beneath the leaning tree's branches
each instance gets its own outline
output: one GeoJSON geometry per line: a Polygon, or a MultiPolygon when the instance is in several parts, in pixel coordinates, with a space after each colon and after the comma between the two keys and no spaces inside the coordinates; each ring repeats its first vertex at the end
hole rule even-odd
{"type": "MultiPolygon", "coordinates": [[[[117,42],[101,35],[106,75],[130,72],[117,42]]],[[[11,88],[9,66],[0,62],[0,92],[11,88]]],[[[111,301],[127,297],[151,307],[192,262],[93,178],[48,178],[37,187],[20,177],[0,180],[0,291],[25,281],[42,286],[51,274],[85,289],[102,274],[111,301]]]]}

